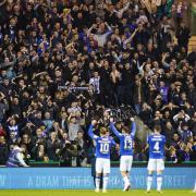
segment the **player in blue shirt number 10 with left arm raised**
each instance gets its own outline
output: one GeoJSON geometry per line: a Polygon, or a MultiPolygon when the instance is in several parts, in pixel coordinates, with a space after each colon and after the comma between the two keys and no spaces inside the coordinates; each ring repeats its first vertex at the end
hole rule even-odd
{"type": "Polygon", "coordinates": [[[88,135],[96,142],[96,189],[99,192],[100,176],[103,174],[102,192],[107,192],[108,176],[110,173],[110,151],[112,145],[117,145],[115,142],[108,135],[106,127],[100,127],[100,136],[94,134],[93,130],[97,124],[96,120],[91,121],[88,128],[88,135]]]}

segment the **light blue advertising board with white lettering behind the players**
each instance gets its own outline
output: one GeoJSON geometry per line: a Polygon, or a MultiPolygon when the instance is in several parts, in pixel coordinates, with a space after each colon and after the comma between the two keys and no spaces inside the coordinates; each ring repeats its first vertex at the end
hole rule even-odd
{"type": "MultiPolygon", "coordinates": [[[[132,188],[146,187],[146,168],[132,170],[132,188]]],[[[167,168],[163,188],[193,188],[196,168],[167,168]]],[[[156,185],[156,182],[154,182],[156,185]]],[[[109,188],[122,188],[119,168],[111,168],[109,188]]],[[[1,168],[0,189],[91,189],[90,168],[1,168]]]]}

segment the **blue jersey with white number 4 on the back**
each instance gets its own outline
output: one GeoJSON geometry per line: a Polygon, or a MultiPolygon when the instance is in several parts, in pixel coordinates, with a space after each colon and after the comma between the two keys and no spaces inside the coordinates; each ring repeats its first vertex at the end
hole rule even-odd
{"type": "Polygon", "coordinates": [[[164,158],[164,144],[166,136],[160,134],[152,134],[148,136],[149,158],[163,159],[164,158]]]}

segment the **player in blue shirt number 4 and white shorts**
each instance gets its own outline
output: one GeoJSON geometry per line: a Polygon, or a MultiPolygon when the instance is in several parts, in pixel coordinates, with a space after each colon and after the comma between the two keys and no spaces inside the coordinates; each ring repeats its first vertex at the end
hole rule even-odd
{"type": "Polygon", "coordinates": [[[161,126],[155,125],[154,134],[148,136],[147,147],[149,148],[147,193],[151,189],[152,173],[157,171],[157,191],[161,193],[162,171],[164,170],[164,144],[166,136],[161,135],[161,126]]]}

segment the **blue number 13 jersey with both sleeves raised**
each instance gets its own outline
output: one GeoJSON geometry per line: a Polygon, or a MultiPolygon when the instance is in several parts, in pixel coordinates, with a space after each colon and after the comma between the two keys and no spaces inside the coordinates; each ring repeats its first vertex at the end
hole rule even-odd
{"type": "Polygon", "coordinates": [[[113,123],[110,123],[110,128],[120,139],[120,155],[133,156],[133,142],[136,132],[135,122],[132,123],[131,134],[119,133],[113,123]]]}

